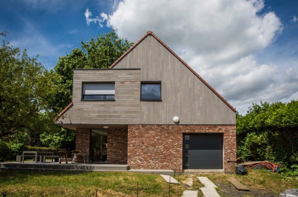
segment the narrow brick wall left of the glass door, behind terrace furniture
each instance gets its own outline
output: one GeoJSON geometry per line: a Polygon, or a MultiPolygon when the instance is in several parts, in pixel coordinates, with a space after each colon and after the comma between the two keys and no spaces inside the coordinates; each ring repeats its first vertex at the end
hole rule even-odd
{"type": "MultiPolygon", "coordinates": [[[[75,136],[75,149],[82,151],[82,154],[88,155],[88,159],[85,156],[85,161],[90,161],[90,129],[77,128],[75,136]]],[[[84,163],[82,155],[77,155],[78,162],[84,163]]]]}

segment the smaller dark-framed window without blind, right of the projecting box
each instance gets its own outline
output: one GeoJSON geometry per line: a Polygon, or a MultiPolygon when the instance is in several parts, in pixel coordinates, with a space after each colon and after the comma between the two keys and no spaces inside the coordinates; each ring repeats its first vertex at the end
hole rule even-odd
{"type": "Polygon", "coordinates": [[[141,100],[161,100],[161,82],[142,82],[141,100]]]}

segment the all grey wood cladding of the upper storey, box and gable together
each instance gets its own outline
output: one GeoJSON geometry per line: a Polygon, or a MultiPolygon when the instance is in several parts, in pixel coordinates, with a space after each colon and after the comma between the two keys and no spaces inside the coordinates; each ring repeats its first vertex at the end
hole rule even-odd
{"type": "Polygon", "coordinates": [[[57,123],[175,124],[174,116],[179,124],[236,122],[235,112],[152,35],[112,69],[75,70],[73,105],[63,115],[57,123]],[[81,101],[82,82],[109,81],[115,82],[115,101],[81,101]],[[162,101],[140,101],[141,81],[161,81],[162,101]]]}

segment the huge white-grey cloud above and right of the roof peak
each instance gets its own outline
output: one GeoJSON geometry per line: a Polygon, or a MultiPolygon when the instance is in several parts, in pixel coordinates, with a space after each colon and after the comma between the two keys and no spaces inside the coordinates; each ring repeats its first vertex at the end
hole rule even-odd
{"type": "Polygon", "coordinates": [[[99,19],[134,42],[152,30],[241,113],[252,102],[298,91],[293,68],[257,61],[283,32],[275,12],[263,13],[263,0],[126,0],[114,6],[99,19]]]}

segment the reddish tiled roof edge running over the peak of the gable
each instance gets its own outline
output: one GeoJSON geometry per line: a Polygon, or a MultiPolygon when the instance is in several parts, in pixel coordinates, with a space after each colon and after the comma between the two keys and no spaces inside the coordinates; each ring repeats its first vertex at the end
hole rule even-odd
{"type": "Polygon", "coordinates": [[[226,101],[218,92],[216,92],[200,75],[198,75],[192,68],[190,68],[189,65],[187,65],[186,62],[184,62],[176,53],[174,53],[174,51],[172,51],[162,40],[160,40],[152,31],[148,31],[145,35],[143,35],[141,37],[141,39],[139,39],[136,43],[134,43],[133,46],[131,46],[131,48],[129,48],[127,51],[125,51],[124,54],[121,55],[121,57],[119,57],[109,68],[113,68],[114,65],[116,65],[126,54],[129,53],[129,51],[131,51],[132,49],[134,49],[134,47],[139,44],[142,40],[144,40],[145,37],[147,37],[147,35],[151,34],[156,40],[159,41],[159,43],[161,43],[165,48],[167,48],[175,57],[178,58],[178,60],[180,60],[181,63],[183,63],[190,71],[193,72],[193,74],[195,74],[205,85],[207,85],[209,87],[210,90],[212,90],[212,92],[214,92],[222,101],[224,101],[224,103],[229,106],[234,112],[236,112],[235,108],[232,107],[232,105],[230,105],[228,103],[228,101],[226,101]]]}

